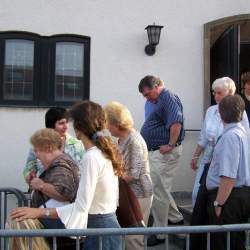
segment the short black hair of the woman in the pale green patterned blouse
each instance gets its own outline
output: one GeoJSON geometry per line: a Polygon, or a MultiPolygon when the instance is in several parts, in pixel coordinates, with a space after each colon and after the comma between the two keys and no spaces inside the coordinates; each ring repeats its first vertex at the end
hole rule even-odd
{"type": "Polygon", "coordinates": [[[57,121],[61,119],[69,120],[69,113],[63,107],[52,107],[45,114],[45,127],[55,128],[57,121]]]}

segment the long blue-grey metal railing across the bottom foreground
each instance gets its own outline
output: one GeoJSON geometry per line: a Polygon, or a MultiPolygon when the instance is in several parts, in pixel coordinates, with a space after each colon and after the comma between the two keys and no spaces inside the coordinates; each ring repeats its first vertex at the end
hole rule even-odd
{"type": "MultiPolygon", "coordinates": [[[[102,242],[102,237],[107,235],[117,236],[120,235],[123,238],[123,249],[125,248],[124,239],[125,235],[145,235],[144,249],[147,248],[147,237],[151,234],[163,234],[166,236],[165,249],[169,248],[168,235],[171,234],[186,234],[186,249],[189,249],[189,235],[191,233],[207,233],[207,250],[210,250],[210,233],[212,232],[226,232],[227,233],[227,249],[230,250],[230,232],[245,231],[247,232],[246,245],[249,246],[249,233],[250,224],[234,224],[234,225],[222,225],[222,226],[178,226],[178,227],[157,227],[157,228],[98,228],[98,229],[86,229],[86,230],[72,230],[72,229],[42,229],[42,230],[0,230],[0,237],[30,237],[29,249],[32,249],[32,237],[52,237],[53,238],[53,250],[57,249],[58,237],[76,237],[76,250],[80,249],[80,241],[83,236],[98,236],[99,242],[102,242]]],[[[102,249],[100,244],[99,249],[102,249]]]]}

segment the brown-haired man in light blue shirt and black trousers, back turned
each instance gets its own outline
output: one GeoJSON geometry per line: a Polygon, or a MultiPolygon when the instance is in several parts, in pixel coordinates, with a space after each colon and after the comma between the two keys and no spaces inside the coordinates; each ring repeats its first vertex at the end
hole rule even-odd
{"type": "MultiPolygon", "coordinates": [[[[245,109],[239,95],[219,104],[224,131],[218,140],[206,179],[211,225],[247,223],[250,215],[249,130],[240,124],[245,109]]],[[[211,250],[227,249],[226,233],[211,234],[211,250]]],[[[231,250],[245,249],[245,232],[233,232],[231,250]]]]}

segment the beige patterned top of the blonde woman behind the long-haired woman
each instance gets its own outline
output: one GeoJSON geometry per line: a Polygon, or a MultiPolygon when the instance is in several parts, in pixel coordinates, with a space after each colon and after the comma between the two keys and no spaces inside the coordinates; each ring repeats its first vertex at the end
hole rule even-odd
{"type": "Polygon", "coordinates": [[[124,141],[119,141],[119,149],[125,162],[125,173],[134,178],[129,184],[137,198],[153,194],[149,174],[147,145],[137,131],[132,131],[124,141]]]}

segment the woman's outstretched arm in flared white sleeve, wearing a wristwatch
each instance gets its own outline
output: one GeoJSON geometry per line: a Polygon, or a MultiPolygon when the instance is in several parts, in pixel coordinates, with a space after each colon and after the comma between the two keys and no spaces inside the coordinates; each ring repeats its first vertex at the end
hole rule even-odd
{"type": "Polygon", "coordinates": [[[48,218],[46,215],[47,209],[50,213],[49,217],[59,217],[66,228],[84,228],[84,226],[87,226],[87,215],[95,194],[99,167],[99,163],[90,157],[84,163],[81,163],[81,179],[74,203],[48,209],[19,207],[11,211],[10,217],[18,221],[29,218],[48,218]]]}

